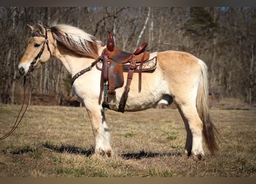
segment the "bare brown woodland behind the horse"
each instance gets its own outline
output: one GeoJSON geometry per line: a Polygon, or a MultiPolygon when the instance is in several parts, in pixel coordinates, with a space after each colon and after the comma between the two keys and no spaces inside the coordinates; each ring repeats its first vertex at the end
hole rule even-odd
{"type": "MultiPolygon", "coordinates": [[[[256,7],[0,7],[0,104],[20,104],[22,77],[17,66],[25,51],[27,24],[77,26],[106,43],[132,52],[178,50],[204,60],[209,88],[223,97],[256,101],[256,7]]],[[[82,68],[81,68],[82,69],[82,68]]],[[[51,58],[33,72],[33,94],[71,97],[71,76],[51,58]]],[[[182,76],[181,76],[182,77],[182,76]]]]}

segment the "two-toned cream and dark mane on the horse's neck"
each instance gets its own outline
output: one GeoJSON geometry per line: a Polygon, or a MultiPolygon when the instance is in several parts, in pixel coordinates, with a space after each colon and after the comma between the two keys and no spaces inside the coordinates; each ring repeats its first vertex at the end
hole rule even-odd
{"type": "Polygon", "coordinates": [[[100,41],[93,35],[66,24],[54,25],[50,29],[57,44],[63,45],[78,55],[97,59],[100,41]]]}

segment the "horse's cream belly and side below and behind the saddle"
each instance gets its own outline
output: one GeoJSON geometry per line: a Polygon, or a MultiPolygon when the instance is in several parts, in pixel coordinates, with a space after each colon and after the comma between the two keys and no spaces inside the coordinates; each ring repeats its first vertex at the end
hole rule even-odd
{"type": "MultiPolygon", "coordinates": [[[[124,78],[127,78],[125,74],[124,78]]],[[[168,87],[168,82],[162,75],[160,68],[152,73],[142,74],[142,91],[139,93],[138,88],[139,75],[135,73],[133,75],[130,91],[128,93],[127,104],[125,105],[125,111],[135,112],[139,110],[146,110],[158,105],[159,101],[165,101],[165,104],[171,103],[171,96],[168,87]]],[[[125,86],[125,85],[124,85],[125,86]]],[[[119,102],[122,97],[124,86],[116,90],[117,104],[110,106],[112,110],[119,109],[119,102]]]]}

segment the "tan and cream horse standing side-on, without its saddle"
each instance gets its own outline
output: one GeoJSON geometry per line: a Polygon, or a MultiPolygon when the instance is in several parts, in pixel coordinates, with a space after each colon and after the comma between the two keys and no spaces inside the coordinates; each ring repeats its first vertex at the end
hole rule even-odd
{"type": "MultiPolygon", "coordinates": [[[[24,76],[47,62],[50,57],[58,58],[74,76],[90,66],[106,48],[95,36],[75,26],[28,26],[32,36],[18,64],[18,70],[24,76]]],[[[153,108],[159,103],[170,105],[174,102],[186,129],[184,155],[199,160],[204,158],[203,137],[208,150],[215,155],[219,146],[217,129],[209,114],[207,65],[187,52],[170,50],[154,53],[157,55],[157,66],[154,72],[142,74],[140,93],[137,83],[131,83],[125,112],[137,112],[153,108]]],[[[124,78],[127,78],[125,73],[124,78]]],[[[139,76],[135,73],[133,81],[138,80],[139,76]]],[[[100,81],[101,71],[91,67],[90,71],[74,81],[72,90],[79,101],[83,102],[89,115],[95,138],[94,154],[111,156],[110,130],[106,124],[104,107],[98,103],[99,94],[102,93],[100,81]]],[[[117,103],[109,105],[110,110],[118,110],[123,91],[124,86],[116,89],[117,103]]]]}

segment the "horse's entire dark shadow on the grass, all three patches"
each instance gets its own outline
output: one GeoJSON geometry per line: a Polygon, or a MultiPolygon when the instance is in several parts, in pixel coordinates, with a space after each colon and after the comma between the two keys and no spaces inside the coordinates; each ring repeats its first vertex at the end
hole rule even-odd
{"type": "MultiPolygon", "coordinates": [[[[43,143],[42,146],[54,152],[62,153],[62,154],[75,154],[75,155],[85,155],[86,157],[90,157],[94,154],[94,148],[91,147],[89,149],[76,147],[75,144],[73,145],[54,145],[51,143],[43,143]]],[[[14,155],[21,155],[28,152],[36,152],[36,149],[33,148],[21,148],[20,150],[12,151],[11,153],[14,155]]],[[[140,152],[132,152],[126,154],[120,154],[121,158],[125,160],[130,159],[144,159],[144,158],[156,158],[159,156],[182,156],[181,152],[147,152],[147,151],[140,151],[140,152]]]]}

